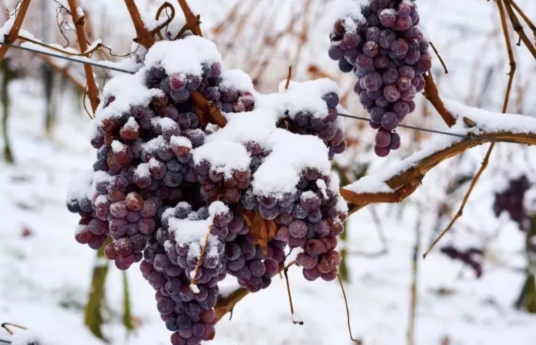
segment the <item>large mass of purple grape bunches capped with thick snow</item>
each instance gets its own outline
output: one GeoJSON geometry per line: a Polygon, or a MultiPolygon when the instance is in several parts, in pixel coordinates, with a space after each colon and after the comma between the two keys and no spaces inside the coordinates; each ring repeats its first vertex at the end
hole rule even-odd
{"type": "Polygon", "coordinates": [[[213,339],[226,276],[259,291],[290,250],[306,279],[337,276],[347,208],[330,171],[346,147],[336,84],[260,95],[247,74],[222,70],[212,42],[187,36],[156,43],[103,99],[96,161],[68,197],[75,237],[119,269],[140,262],[173,345],[213,339]]]}

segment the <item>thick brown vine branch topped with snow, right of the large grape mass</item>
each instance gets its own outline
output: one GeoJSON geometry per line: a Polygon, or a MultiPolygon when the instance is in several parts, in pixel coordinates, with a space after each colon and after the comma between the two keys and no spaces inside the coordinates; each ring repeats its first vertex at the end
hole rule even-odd
{"type": "Polygon", "coordinates": [[[474,146],[495,141],[536,144],[536,119],[532,117],[500,114],[449,100],[443,100],[443,104],[457,118],[448,130],[457,136],[442,134],[392,167],[342,187],[341,195],[355,205],[353,212],[373,202],[400,202],[415,191],[431,168],[474,146]]]}

